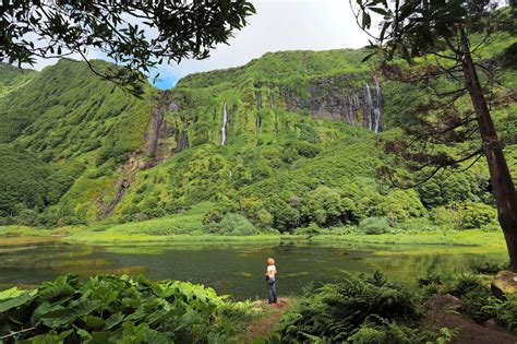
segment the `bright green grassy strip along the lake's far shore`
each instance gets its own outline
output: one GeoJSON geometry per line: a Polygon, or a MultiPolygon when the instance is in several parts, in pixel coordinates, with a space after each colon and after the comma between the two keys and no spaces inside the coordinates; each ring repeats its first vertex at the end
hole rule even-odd
{"type": "Polygon", "coordinates": [[[70,244],[110,245],[110,244],[226,244],[226,242],[312,242],[320,245],[419,245],[419,246],[456,246],[478,247],[494,250],[506,248],[502,232],[485,232],[480,229],[458,232],[418,232],[409,230],[398,234],[344,234],[344,235],[289,235],[258,234],[251,236],[221,235],[149,235],[139,233],[122,233],[107,228],[96,230],[95,227],[62,227],[56,229],[38,229],[23,226],[0,227],[0,245],[20,245],[59,240],[70,244]]]}

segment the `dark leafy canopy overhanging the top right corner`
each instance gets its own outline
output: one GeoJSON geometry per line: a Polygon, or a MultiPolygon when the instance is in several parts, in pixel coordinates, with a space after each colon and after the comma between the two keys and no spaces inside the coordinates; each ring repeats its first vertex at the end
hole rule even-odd
{"type": "MultiPolygon", "coordinates": [[[[508,15],[494,11],[491,0],[357,0],[350,1],[358,24],[374,39],[374,54],[392,60],[401,57],[408,62],[444,49],[457,51],[459,29],[492,34],[512,27],[508,15]],[[372,17],[382,15],[377,34],[372,34],[372,17]],[[455,41],[456,40],[456,41],[455,41]]],[[[378,16],[377,16],[378,17],[378,16]]],[[[484,41],[482,41],[484,43],[484,41]]],[[[476,47],[474,47],[476,49],[476,47]]]]}

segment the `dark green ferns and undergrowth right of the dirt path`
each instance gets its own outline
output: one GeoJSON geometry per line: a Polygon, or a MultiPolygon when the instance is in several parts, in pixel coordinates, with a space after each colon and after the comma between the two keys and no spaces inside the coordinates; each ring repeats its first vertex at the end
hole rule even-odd
{"type": "Polygon", "coordinates": [[[418,289],[390,283],[378,272],[372,276],[350,275],[337,284],[311,285],[296,307],[282,316],[276,333],[264,342],[448,343],[458,332],[468,330],[425,329],[422,319],[436,311],[432,299],[438,295],[457,298],[456,305],[448,306],[457,309],[449,313],[478,323],[492,319],[515,332],[515,295],[502,299],[492,296],[486,278],[479,275],[503,268],[480,263],[460,275],[433,274],[421,278],[418,289]]]}

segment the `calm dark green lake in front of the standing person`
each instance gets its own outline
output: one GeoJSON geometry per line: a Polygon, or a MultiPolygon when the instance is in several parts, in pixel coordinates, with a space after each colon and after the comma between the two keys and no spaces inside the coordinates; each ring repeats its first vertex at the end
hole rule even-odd
{"type": "Polygon", "coordinates": [[[505,251],[479,247],[281,244],[72,245],[62,241],[0,244],[0,288],[33,287],[65,273],[145,274],[152,280],[204,284],[236,299],[265,298],[265,261],[277,261],[277,290],[300,295],[303,286],[339,281],[349,272],[381,270],[389,278],[414,283],[430,272],[461,272],[472,261],[503,262],[505,251]]]}

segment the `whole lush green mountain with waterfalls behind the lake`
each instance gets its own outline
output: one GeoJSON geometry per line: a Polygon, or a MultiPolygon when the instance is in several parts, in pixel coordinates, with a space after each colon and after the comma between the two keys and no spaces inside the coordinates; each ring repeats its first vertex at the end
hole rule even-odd
{"type": "MultiPolygon", "coordinates": [[[[486,59],[498,61],[510,44],[500,38],[486,59]]],[[[364,54],[266,54],[189,75],[171,91],[146,85],[142,98],[82,62],[24,73],[2,66],[0,222],[180,218],[159,234],[291,230],[368,217],[440,224],[477,216],[467,226],[486,225],[494,210],[483,164],[414,190],[380,178],[386,157],[376,143],[399,135],[422,91],[383,80],[361,63],[364,54]]],[[[503,66],[503,75],[514,87],[515,69],[503,66]]],[[[495,114],[514,176],[516,112],[495,114]]]]}

